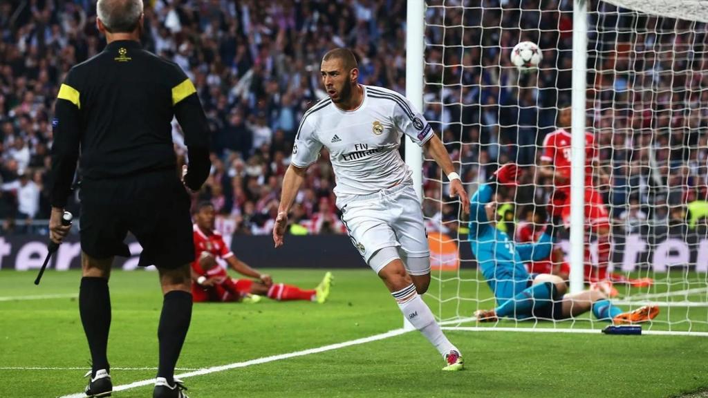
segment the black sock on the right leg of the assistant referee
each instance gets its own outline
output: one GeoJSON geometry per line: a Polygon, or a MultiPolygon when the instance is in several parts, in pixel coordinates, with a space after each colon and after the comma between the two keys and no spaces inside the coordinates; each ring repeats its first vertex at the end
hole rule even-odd
{"type": "Polygon", "coordinates": [[[160,364],[157,377],[164,377],[169,385],[174,384],[174,371],[179,353],[192,320],[192,293],[183,290],[168,292],[162,302],[160,326],[157,337],[160,341],[160,364]]]}

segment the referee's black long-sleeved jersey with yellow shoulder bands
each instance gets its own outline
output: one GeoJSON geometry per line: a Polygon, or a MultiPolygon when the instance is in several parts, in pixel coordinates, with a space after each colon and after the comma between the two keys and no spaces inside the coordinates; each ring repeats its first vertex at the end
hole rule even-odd
{"type": "Polygon", "coordinates": [[[182,69],[133,40],[110,42],[74,66],[59,88],[52,120],[52,206],[66,204],[79,152],[89,179],[174,168],[173,115],[190,157],[185,183],[197,190],[209,174],[210,132],[182,69]]]}

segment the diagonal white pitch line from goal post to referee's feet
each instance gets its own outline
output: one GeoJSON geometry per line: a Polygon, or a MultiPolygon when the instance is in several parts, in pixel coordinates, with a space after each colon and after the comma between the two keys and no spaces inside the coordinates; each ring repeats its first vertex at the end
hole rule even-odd
{"type": "MultiPolygon", "coordinates": [[[[330,344],[329,346],[309,348],[307,350],[295,351],[292,353],[285,353],[285,354],[280,354],[280,355],[275,355],[275,356],[266,356],[263,358],[246,360],[244,362],[229,363],[228,365],[213,366],[212,368],[200,369],[200,370],[195,370],[194,372],[182,373],[181,375],[175,375],[175,377],[177,377],[179,379],[185,379],[187,377],[208,375],[210,373],[223,372],[224,370],[230,370],[230,369],[236,369],[236,368],[246,368],[246,366],[260,365],[261,363],[274,362],[276,360],[295,358],[298,356],[307,356],[307,355],[316,354],[316,353],[324,353],[325,351],[336,350],[338,348],[344,348],[344,347],[349,347],[349,346],[358,346],[359,344],[370,343],[372,341],[388,339],[389,337],[399,336],[399,335],[405,334],[407,332],[409,332],[409,330],[394,329],[391,331],[387,331],[386,333],[375,334],[373,336],[364,337],[362,339],[344,341],[343,343],[335,343],[335,344],[330,344]]],[[[126,385],[118,385],[118,386],[113,387],[113,392],[130,390],[131,388],[142,387],[144,385],[152,385],[152,384],[154,384],[154,382],[155,382],[154,379],[148,379],[148,380],[140,380],[139,382],[132,382],[132,383],[126,384],[126,385]]],[[[85,398],[85,397],[86,397],[86,394],[84,394],[84,392],[79,392],[76,394],[64,395],[59,398],[85,398]]]]}

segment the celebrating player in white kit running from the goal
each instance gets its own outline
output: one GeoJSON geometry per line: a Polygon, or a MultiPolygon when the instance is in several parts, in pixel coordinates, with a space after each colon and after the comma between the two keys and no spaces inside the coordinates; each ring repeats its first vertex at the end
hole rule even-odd
{"type": "Polygon", "coordinates": [[[459,196],[464,212],[469,212],[467,193],[447,149],[404,96],[358,84],[359,70],[350,50],[327,52],[321,74],[329,97],[300,121],[282,181],[275,247],[282,245],[287,213],[307,167],[327,147],[336,176],[337,207],[354,246],[382,278],[404,317],[440,351],[446,361],[443,370],[461,370],[459,350],[442,334],[419,296],[430,285],[430,251],[411,170],[398,151],[403,134],[425,146],[450,179],[450,195],[459,196]]]}

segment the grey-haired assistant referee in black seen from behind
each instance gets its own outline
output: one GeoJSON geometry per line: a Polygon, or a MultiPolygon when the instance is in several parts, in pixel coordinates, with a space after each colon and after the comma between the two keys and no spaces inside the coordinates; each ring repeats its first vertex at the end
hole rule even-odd
{"type": "Polygon", "coordinates": [[[91,350],[86,395],[110,395],[106,358],[110,329],[108,278],[113,256],[130,256],[132,232],[143,247],[139,265],[154,264],[164,294],[157,336],[159,368],[154,397],[186,397],[174,368],[192,314],[189,263],[194,260],[191,191],[210,171],[210,132],[192,82],[172,62],[142,50],[142,0],[98,0],[105,50],[74,66],[59,89],[52,145],[50,237],[61,224],[76,161],[81,181],[81,289],[79,312],[91,350]],[[190,164],[176,170],[171,120],[185,135],[190,164]]]}

